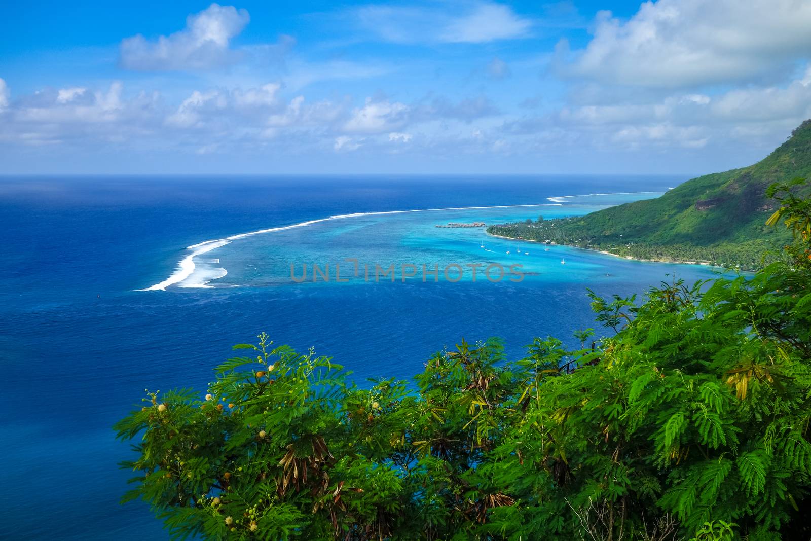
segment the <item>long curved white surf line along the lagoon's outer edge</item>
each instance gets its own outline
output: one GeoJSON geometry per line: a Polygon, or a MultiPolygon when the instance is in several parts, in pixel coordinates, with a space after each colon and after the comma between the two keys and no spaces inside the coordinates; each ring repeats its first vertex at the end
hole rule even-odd
{"type": "MultiPolygon", "coordinates": [[[[551,199],[551,198],[549,198],[551,199]]],[[[380,211],[375,213],[351,213],[351,214],[338,214],[336,216],[331,216],[328,218],[319,218],[317,220],[308,220],[302,221],[298,224],[293,225],[282,225],[280,227],[271,227],[265,230],[257,230],[251,231],[249,233],[240,233],[231,235],[230,237],[225,238],[217,238],[214,240],[207,240],[202,243],[192,244],[190,247],[187,247],[187,250],[191,250],[191,253],[180,260],[178,263],[178,267],[175,269],[174,273],[172,273],[168,278],[164,281],[161,281],[154,286],[149,286],[144,288],[143,290],[138,291],[165,291],[167,287],[174,286],[174,284],[178,284],[188,277],[191,276],[192,273],[195,272],[195,257],[197,255],[202,255],[208,251],[212,251],[216,248],[223,247],[226,244],[230,244],[234,240],[238,240],[240,238],[251,237],[257,234],[265,234],[265,233],[274,233],[276,231],[285,231],[285,230],[292,230],[296,227],[305,227],[307,225],[317,224],[321,221],[330,221],[330,220],[342,220],[345,218],[356,218],[362,216],[380,216],[384,214],[405,214],[405,213],[429,213],[434,211],[442,211],[442,210],[476,210],[479,208],[518,208],[518,207],[561,207],[563,206],[560,203],[550,204],[550,203],[539,203],[539,204],[500,204],[494,206],[487,206],[487,207],[448,207],[448,208],[416,208],[414,210],[388,210],[388,211],[380,211]]],[[[572,205],[574,206],[574,205],[572,205]]],[[[196,287],[212,287],[206,286],[205,284],[198,284],[196,287]]]]}

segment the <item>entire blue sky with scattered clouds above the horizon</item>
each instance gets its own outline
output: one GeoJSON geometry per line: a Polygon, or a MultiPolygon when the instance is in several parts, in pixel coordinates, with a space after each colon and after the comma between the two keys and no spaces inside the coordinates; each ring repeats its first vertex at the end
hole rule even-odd
{"type": "Polygon", "coordinates": [[[0,174],[704,174],[811,118],[811,2],[7,2],[0,174]]]}

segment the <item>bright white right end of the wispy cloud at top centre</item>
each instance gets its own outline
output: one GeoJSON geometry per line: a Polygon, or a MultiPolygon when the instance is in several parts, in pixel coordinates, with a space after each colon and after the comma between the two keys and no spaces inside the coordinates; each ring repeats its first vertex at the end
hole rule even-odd
{"type": "Polygon", "coordinates": [[[529,20],[521,19],[508,6],[483,3],[476,6],[470,14],[448,24],[440,34],[440,41],[485,43],[508,40],[527,36],[531,26],[529,20]]]}

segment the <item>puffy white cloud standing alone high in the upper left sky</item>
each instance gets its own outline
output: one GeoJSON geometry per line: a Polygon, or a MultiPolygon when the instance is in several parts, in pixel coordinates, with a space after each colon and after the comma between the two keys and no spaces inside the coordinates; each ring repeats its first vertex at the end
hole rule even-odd
{"type": "Polygon", "coordinates": [[[229,48],[234,36],[250,20],[248,12],[216,3],[189,15],[186,28],[148,41],[140,34],[121,42],[121,65],[131,70],[204,70],[221,67],[238,58],[229,48]]]}

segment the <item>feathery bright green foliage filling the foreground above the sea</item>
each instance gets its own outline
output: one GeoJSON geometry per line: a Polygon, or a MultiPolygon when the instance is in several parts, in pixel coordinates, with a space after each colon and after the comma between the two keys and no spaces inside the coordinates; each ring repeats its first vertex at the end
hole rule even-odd
{"type": "Polygon", "coordinates": [[[461,341],[359,389],[262,334],[203,399],[148,393],[116,425],[137,440],[124,499],[177,538],[809,539],[806,203],[775,219],[793,261],[591,294],[616,334],[577,350],[461,341]]]}

